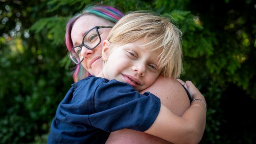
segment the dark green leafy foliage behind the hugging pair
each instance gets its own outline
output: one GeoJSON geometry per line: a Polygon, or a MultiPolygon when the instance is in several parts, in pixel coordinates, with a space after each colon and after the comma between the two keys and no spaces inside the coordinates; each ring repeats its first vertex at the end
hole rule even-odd
{"type": "MultiPolygon", "coordinates": [[[[94,0],[0,2],[0,143],[46,143],[72,68],[66,23],[94,0]]],[[[255,142],[256,38],[252,1],[103,0],[123,12],[171,16],[183,32],[183,80],[207,100],[201,143],[255,142]],[[249,128],[249,129],[246,129],[249,128]]]]}

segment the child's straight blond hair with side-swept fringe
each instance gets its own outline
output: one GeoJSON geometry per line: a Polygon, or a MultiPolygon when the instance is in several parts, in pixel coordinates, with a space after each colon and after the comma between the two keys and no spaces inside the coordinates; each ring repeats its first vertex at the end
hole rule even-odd
{"type": "Polygon", "coordinates": [[[148,11],[130,12],[110,31],[111,45],[132,43],[145,38],[151,51],[160,51],[159,68],[165,77],[179,78],[182,71],[182,32],[168,18],[148,11]]]}

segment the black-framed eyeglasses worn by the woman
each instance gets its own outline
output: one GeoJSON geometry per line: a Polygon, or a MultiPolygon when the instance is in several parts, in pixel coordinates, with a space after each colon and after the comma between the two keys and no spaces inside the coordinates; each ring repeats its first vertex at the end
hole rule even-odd
{"type": "Polygon", "coordinates": [[[81,51],[83,46],[86,47],[87,49],[93,50],[100,44],[101,38],[100,38],[98,29],[101,29],[101,28],[112,28],[112,27],[102,26],[102,27],[92,28],[91,30],[85,33],[83,37],[83,42],[81,43],[81,45],[75,46],[71,49],[69,53],[69,58],[75,64],[78,65],[84,60],[83,56],[81,56],[81,51]]]}

